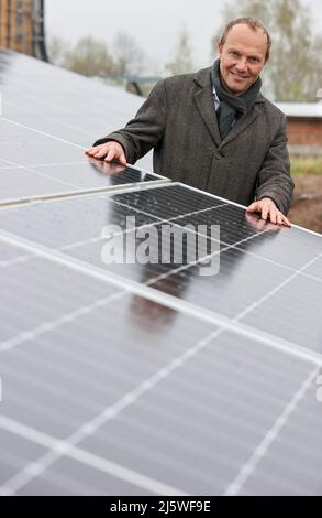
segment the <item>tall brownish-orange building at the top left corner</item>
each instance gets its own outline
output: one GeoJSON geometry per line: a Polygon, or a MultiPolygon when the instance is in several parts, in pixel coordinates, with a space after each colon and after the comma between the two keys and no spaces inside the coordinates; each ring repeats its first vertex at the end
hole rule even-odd
{"type": "Polygon", "coordinates": [[[0,0],[0,47],[48,61],[44,0],[0,0]]]}

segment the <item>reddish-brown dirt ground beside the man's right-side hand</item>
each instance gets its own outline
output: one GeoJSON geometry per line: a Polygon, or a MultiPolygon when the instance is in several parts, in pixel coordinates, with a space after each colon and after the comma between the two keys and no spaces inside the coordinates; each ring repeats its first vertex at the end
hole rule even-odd
{"type": "Polygon", "coordinates": [[[295,176],[293,181],[295,201],[288,218],[322,234],[322,174],[295,176]]]}

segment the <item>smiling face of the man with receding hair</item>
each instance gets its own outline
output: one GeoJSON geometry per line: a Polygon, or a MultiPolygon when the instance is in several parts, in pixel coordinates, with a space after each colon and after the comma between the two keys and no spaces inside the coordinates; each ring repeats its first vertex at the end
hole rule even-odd
{"type": "Polygon", "coordinates": [[[220,72],[229,89],[241,95],[256,82],[266,63],[267,36],[245,23],[234,25],[218,44],[220,72]]]}

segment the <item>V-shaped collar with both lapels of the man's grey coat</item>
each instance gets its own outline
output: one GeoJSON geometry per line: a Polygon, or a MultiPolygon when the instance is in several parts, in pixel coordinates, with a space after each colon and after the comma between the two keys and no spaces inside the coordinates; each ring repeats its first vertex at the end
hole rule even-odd
{"type": "Polygon", "coordinates": [[[215,117],[215,109],[212,96],[212,85],[210,78],[211,67],[202,68],[201,71],[197,72],[193,76],[193,82],[201,88],[198,88],[195,93],[195,100],[197,102],[199,112],[203,122],[206,123],[212,139],[216,143],[218,147],[221,147],[231,140],[233,140],[237,134],[244,131],[258,116],[259,109],[257,106],[258,104],[265,102],[265,97],[259,93],[256,96],[254,105],[252,107],[252,111],[243,117],[241,121],[237,121],[236,125],[232,128],[224,140],[221,140],[216,117],[215,117]]]}

